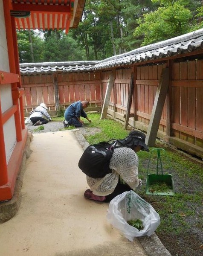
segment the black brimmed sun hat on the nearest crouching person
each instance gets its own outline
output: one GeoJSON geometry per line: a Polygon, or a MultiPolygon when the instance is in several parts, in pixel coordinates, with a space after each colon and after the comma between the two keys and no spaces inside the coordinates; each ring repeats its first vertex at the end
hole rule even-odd
{"type": "Polygon", "coordinates": [[[141,146],[141,150],[149,151],[148,146],[145,144],[145,134],[141,131],[131,131],[125,139],[118,140],[118,143],[132,149],[136,146],[141,146]]]}

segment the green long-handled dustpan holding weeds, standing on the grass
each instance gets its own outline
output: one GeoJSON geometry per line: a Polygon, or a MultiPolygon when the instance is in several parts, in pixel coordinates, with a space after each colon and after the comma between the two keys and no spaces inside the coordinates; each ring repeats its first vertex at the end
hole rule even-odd
{"type": "Polygon", "coordinates": [[[174,181],[170,174],[163,174],[162,161],[160,151],[165,151],[163,148],[154,148],[152,151],[157,151],[157,174],[149,174],[149,163],[151,160],[151,155],[148,162],[147,169],[147,180],[146,180],[146,195],[175,195],[174,193],[174,181]],[[158,164],[160,161],[161,174],[158,174],[158,164]]]}

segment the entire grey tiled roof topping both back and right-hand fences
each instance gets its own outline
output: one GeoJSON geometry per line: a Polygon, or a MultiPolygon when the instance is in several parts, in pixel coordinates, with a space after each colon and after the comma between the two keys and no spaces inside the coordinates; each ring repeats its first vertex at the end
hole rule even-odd
{"type": "Polygon", "coordinates": [[[24,63],[20,64],[21,75],[33,75],[43,73],[79,72],[102,70],[105,68],[125,66],[139,62],[145,63],[149,60],[161,60],[171,56],[180,57],[181,54],[203,49],[203,29],[180,35],[150,44],[131,52],[114,55],[102,61],[69,61],[69,62],[44,62],[44,63],[24,63]]]}

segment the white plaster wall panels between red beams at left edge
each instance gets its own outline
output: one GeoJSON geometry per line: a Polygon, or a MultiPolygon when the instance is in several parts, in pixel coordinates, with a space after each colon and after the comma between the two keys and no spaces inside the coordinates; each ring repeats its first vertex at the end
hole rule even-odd
{"type": "MultiPolygon", "coordinates": [[[[3,0],[0,0],[0,70],[9,72],[9,55],[6,41],[6,28],[3,13],[3,0]]],[[[12,107],[11,84],[0,85],[0,102],[2,113],[12,107]]],[[[9,162],[16,144],[16,129],[14,116],[3,125],[4,142],[6,149],[6,162],[9,162]]]]}

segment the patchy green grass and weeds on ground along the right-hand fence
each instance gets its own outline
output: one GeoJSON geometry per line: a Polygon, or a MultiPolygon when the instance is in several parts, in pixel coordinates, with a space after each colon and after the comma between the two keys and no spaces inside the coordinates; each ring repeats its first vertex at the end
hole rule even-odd
{"type": "MultiPolygon", "coordinates": [[[[100,119],[99,113],[88,113],[92,123],[87,129],[100,128],[99,133],[86,135],[88,143],[125,138],[129,130],[113,119],[100,119]]],[[[73,129],[68,127],[65,129],[73,129]]],[[[150,203],[159,213],[161,224],[156,234],[172,256],[203,255],[203,164],[196,162],[180,151],[174,151],[167,144],[157,140],[155,148],[161,152],[162,167],[157,165],[154,148],[150,152],[139,151],[139,178],[143,185],[135,192],[150,203]],[[153,154],[152,154],[153,152],[153,154]],[[163,153],[163,154],[162,154],[163,153]],[[151,154],[151,158],[150,158],[151,154]],[[150,163],[149,163],[150,159],[150,163]],[[174,196],[146,195],[146,178],[149,173],[171,174],[174,181],[174,196]]]]}

